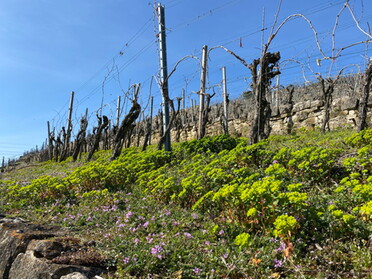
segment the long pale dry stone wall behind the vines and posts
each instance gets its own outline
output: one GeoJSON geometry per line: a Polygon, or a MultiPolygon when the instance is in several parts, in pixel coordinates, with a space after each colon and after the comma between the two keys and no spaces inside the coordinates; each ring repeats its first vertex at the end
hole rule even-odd
{"type": "MultiPolygon", "coordinates": [[[[253,108],[247,104],[247,100],[240,100],[239,104],[230,105],[229,118],[229,133],[233,136],[249,137],[251,125],[253,122],[253,108]],[[236,117],[234,109],[244,108],[246,113],[238,112],[239,117],[236,117]]],[[[369,100],[369,112],[367,123],[372,126],[372,98],[369,100]]],[[[278,110],[272,108],[273,116],[271,117],[272,134],[287,134],[291,131],[300,128],[314,129],[320,128],[324,119],[324,104],[323,101],[315,96],[308,96],[303,102],[296,102],[292,106],[290,104],[282,104],[278,110]],[[292,108],[291,108],[292,107],[292,108]]],[[[335,98],[331,106],[330,114],[330,129],[340,127],[356,128],[359,121],[359,100],[355,96],[345,94],[335,98]]],[[[223,134],[221,117],[212,118],[213,120],[207,125],[206,135],[213,136],[223,134]]],[[[197,122],[188,123],[182,128],[180,136],[177,136],[179,131],[172,130],[172,141],[192,140],[197,137],[197,122]]],[[[156,143],[159,138],[159,132],[154,131],[152,143],[156,143]]],[[[142,143],[142,139],[140,141],[142,143]]]]}

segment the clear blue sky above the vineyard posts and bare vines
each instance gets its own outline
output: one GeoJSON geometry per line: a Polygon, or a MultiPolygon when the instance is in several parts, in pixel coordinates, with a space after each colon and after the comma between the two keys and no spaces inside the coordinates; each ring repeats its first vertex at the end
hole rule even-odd
{"type": "MultiPolygon", "coordinates": [[[[277,0],[164,0],[169,71],[186,55],[200,57],[203,45],[222,45],[250,63],[258,58],[262,40],[267,41],[278,7],[277,0]],[[265,31],[262,32],[262,27],[265,31]]],[[[283,0],[278,24],[290,14],[302,13],[319,33],[326,55],[332,53],[331,34],[344,1],[283,0]]],[[[372,24],[372,1],[350,0],[360,26],[372,24]]],[[[149,95],[157,109],[161,102],[158,76],[157,18],[150,0],[3,0],[0,8],[0,156],[15,158],[41,146],[47,137],[47,121],[60,130],[67,121],[71,91],[75,91],[73,123],[86,108],[89,121],[95,113],[113,119],[116,99],[133,83],[141,83],[140,101],[149,95]],[[104,82],[105,81],[105,82],[104,82]]],[[[366,40],[348,10],[339,17],[335,49],[366,40]]],[[[289,21],[270,48],[282,56],[281,83],[315,79],[302,73],[295,59],[315,72],[327,75],[329,63],[321,58],[314,34],[303,19],[289,21]]],[[[333,73],[357,64],[363,71],[371,51],[365,44],[352,47],[336,61],[333,73]]],[[[237,98],[249,89],[250,73],[223,51],[210,52],[208,87],[221,82],[227,67],[228,91],[237,98]]],[[[358,71],[355,66],[350,72],[358,71]]],[[[181,63],[169,80],[171,98],[186,90],[186,105],[197,99],[200,66],[194,59],[181,63]]],[[[212,89],[209,89],[212,92],[212,89]]],[[[216,87],[214,102],[221,100],[216,87]]],[[[148,108],[148,107],[147,107],[148,108]]],[[[129,109],[123,103],[123,113],[129,109]]],[[[147,110],[145,111],[145,114],[147,110]]]]}

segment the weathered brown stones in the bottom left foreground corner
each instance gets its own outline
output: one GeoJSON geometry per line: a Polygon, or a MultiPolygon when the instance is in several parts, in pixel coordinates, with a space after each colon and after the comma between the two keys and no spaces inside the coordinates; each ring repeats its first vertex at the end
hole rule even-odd
{"type": "MultiPolygon", "coordinates": [[[[95,266],[87,262],[93,253],[88,246],[78,239],[67,237],[60,228],[0,215],[0,278],[102,278],[99,275],[105,269],[100,263],[95,266]]],[[[102,259],[98,254],[94,258],[102,259]]]]}

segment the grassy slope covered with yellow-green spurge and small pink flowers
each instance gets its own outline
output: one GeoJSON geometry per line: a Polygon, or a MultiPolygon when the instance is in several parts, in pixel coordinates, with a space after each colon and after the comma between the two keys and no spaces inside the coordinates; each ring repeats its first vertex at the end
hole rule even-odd
{"type": "Polygon", "coordinates": [[[95,240],[113,278],[368,278],[371,141],[339,130],[102,151],[5,174],[3,210],[95,240]]]}

